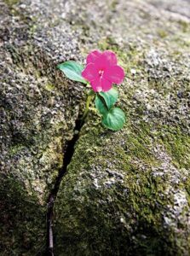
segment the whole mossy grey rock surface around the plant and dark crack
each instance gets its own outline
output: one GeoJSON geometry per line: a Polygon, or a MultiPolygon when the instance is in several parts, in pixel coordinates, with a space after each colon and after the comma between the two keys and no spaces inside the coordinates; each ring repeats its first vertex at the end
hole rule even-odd
{"type": "Polygon", "coordinates": [[[189,255],[189,1],[0,5],[3,255],[45,250],[47,198],[84,103],[55,66],[90,49],[117,53],[128,121],[106,131],[91,108],[55,202],[55,255],[189,255]]]}

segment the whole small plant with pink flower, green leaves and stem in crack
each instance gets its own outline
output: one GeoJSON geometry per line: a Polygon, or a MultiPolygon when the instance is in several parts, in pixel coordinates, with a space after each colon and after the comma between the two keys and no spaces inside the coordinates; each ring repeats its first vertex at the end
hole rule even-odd
{"type": "Polygon", "coordinates": [[[122,109],[115,107],[118,90],[112,84],[122,83],[124,69],[118,66],[117,57],[111,50],[94,50],[89,53],[86,62],[85,68],[76,61],[66,61],[58,65],[58,68],[68,79],[91,85],[82,119],[85,119],[90,102],[95,98],[95,108],[102,117],[101,124],[112,131],[118,131],[124,126],[125,114],[122,109]]]}

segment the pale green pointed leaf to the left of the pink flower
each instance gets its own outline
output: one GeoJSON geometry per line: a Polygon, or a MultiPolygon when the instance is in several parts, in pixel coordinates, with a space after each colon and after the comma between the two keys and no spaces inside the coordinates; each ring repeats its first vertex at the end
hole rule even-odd
{"type": "Polygon", "coordinates": [[[65,73],[68,79],[78,81],[83,84],[88,84],[88,81],[83,79],[81,73],[83,71],[83,65],[76,61],[66,61],[57,66],[63,73],[65,73]]]}

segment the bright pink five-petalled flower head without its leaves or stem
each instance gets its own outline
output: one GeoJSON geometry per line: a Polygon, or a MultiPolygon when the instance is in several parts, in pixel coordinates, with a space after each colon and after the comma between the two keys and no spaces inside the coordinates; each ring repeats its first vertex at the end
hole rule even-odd
{"type": "Polygon", "coordinates": [[[112,89],[112,84],[120,84],[124,79],[124,69],[117,65],[116,55],[111,50],[94,50],[87,56],[87,66],[82,72],[95,91],[112,89]]]}

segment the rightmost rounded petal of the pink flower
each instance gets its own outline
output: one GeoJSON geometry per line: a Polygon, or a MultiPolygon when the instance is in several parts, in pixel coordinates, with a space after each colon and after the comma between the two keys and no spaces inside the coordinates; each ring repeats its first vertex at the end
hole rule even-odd
{"type": "Polygon", "coordinates": [[[104,74],[104,78],[114,84],[120,84],[124,79],[124,69],[118,65],[109,67],[104,74]]]}

